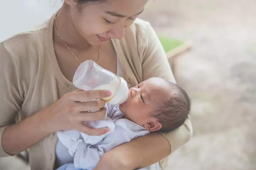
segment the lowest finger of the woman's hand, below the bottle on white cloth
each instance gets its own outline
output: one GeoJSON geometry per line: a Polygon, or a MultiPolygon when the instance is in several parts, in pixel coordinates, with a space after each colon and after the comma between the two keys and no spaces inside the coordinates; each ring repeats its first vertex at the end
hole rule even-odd
{"type": "Polygon", "coordinates": [[[82,124],[78,126],[77,130],[91,136],[100,136],[100,135],[106,134],[109,131],[108,128],[94,129],[82,124]]]}

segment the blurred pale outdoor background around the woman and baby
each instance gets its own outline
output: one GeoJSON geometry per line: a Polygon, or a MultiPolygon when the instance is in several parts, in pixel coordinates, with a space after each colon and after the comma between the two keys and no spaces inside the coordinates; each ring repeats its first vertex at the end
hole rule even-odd
{"type": "MultiPolygon", "coordinates": [[[[58,2],[1,0],[0,41],[48,19],[58,2]]],[[[192,98],[194,134],[168,170],[256,170],[256,1],[150,0],[140,18],[166,52],[191,45],[172,64],[192,98]]],[[[0,158],[1,170],[15,168],[29,170],[17,157],[0,158]]]]}

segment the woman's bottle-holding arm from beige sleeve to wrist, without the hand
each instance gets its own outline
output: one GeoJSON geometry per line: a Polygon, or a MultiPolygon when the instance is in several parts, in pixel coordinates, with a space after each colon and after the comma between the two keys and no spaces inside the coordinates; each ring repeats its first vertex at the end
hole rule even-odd
{"type": "MultiPolygon", "coordinates": [[[[24,100],[18,81],[18,64],[0,43],[0,157],[15,155],[36,144],[52,131],[43,123],[45,113],[37,113],[15,124],[24,100]],[[42,113],[42,114],[41,114],[42,113]]],[[[16,60],[17,61],[17,60],[16,60]]]]}

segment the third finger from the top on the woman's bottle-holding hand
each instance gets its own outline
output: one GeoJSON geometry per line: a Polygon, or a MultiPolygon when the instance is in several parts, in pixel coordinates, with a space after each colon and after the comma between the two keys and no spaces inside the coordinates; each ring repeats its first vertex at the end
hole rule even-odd
{"type": "Polygon", "coordinates": [[[76,115],[76,120],[77,121],[94,121],[94,120],[99,120],[105,115],[106,115],[106,108],[104,107],[97,112],[81,112],[78,115],[76,115]]]}

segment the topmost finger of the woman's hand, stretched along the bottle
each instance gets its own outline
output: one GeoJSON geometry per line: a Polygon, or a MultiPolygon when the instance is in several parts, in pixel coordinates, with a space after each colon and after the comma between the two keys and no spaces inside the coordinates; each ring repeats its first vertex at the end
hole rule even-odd
{"type": "Polygon", "coordinates": [[[80,89],[76,89],[73,93],[70,93],[70,98],[73,101],[87,101],[94,100],[97,98],[105,98],[110,97],[111,92],[108,90],[87,90],[81,91],[80,89]]]}

